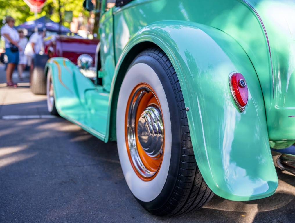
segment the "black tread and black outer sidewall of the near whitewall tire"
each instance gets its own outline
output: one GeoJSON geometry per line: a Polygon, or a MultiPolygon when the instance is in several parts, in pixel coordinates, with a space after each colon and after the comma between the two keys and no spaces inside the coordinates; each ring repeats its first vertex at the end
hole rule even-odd
{"type": "MultiPolygon", "coordinates": [[[[168,176],[160,194],[151,201],[142,201],[136,196],[135,198],[147,211],[158,216],[178,215],[199,209],[214,193],[205,183],[196,164],[178,77],[167,55],[159,48],[141,52],[128,70],[142,63],[155,71],[163,86],[171,119],[172,148],[168,176]]],[[[120,145],[118,149],[119,147],[120,145]]],[[[121,165],[122,161],[120,157],[121,165]]]]}

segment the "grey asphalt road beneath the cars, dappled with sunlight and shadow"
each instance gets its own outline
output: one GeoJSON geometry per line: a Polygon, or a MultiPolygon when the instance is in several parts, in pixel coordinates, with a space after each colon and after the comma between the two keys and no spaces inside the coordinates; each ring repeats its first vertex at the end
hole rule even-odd
{"type": "Polygon", "coordinates": [[[116,142],[105,144],[48,116],[45,96],[33,95],[27,82],[7,88],[0,65],[1,223],[295,222],[295,176],[281,170],[278,190],[269,198],[235,202],[215,195],[199,211],[150,215],[124,181],[116,142]]]}

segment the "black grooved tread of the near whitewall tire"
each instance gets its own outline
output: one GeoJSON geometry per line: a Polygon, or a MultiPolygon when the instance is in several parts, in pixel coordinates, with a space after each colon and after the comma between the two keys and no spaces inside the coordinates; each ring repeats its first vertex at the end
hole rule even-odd
{"type": "Polygon", "coordinates": [[[183,100],[181,86],[167,55],[159,48],[149,48],[138,56],[148,55],[158,60],[168,73],[171,84],[176,94],[178,109],[181,118],[182,148],[180,168],[176,185],[170,199],[158,210],[148,210],[155,215],[178,215],[197,210],[206,204],[214,195],[205,183],[196,164],[191,143],[186,107],[183,100]]]}

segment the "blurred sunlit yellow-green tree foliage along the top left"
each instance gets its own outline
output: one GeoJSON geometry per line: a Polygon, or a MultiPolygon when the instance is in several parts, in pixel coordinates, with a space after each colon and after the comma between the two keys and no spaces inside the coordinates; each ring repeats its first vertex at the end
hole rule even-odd
{"type": "MultiPolygon", "coordinates": [[[[83,9],[83,0],[47,0],[38,13],[38,18],[46,15],[54,22],[59,22],[59,3],[62,20],[65,11],[73,12],[74,17],[78,17],[80,13],[89,16],[89,12],[83,9]]],[[[0,0],[0,19],[4,19],[7,15],[14,17],[15,25],[35,19],[34,13],[30,12],[29,6],[23,0],[0,0]]],[[[0,22],[0,27],[2,25],[0,22]]],[[[69,27],[70,24],[63,22],[63,25],[69,27]]]]}

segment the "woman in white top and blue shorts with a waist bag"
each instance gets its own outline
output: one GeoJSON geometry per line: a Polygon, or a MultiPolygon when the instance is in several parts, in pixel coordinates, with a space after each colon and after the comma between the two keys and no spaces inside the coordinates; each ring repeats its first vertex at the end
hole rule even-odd
{"type": "Polygon", "coordinates": [[[6,24],[1,28],[1,35],[5,40],[5,54],[8,58],[8,64],[6,68],[6,81],[7,86],[16,86],[12,82],[12,73],[15,66],[19,62],[19,52],[18,52],[18,41],[19,35],[17,31],[13,28],[14,18],[11,16],[6,16],[6,24]]]}

